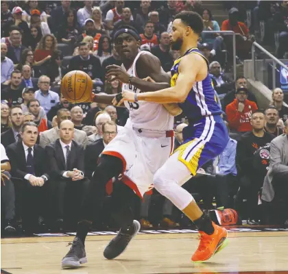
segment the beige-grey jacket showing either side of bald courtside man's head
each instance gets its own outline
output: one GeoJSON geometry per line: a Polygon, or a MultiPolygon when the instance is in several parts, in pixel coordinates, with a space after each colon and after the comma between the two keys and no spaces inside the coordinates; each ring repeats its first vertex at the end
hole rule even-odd
{"type": "MultiPolygon", "coordinates": [[[[43,147],[44,149],[47,145],[51,144],[51,142],[55,142],[59,138],[60,138],[60,132],[59,132],[58,127],[53,127],[40,134],[39,145],[43,147]]],[[[84,147],[86,147],[86,145],[88,144],[87,134],[83,130],[74,129],[73,140],[75,140],[76,142],[79,142],[84,147]]]]}

